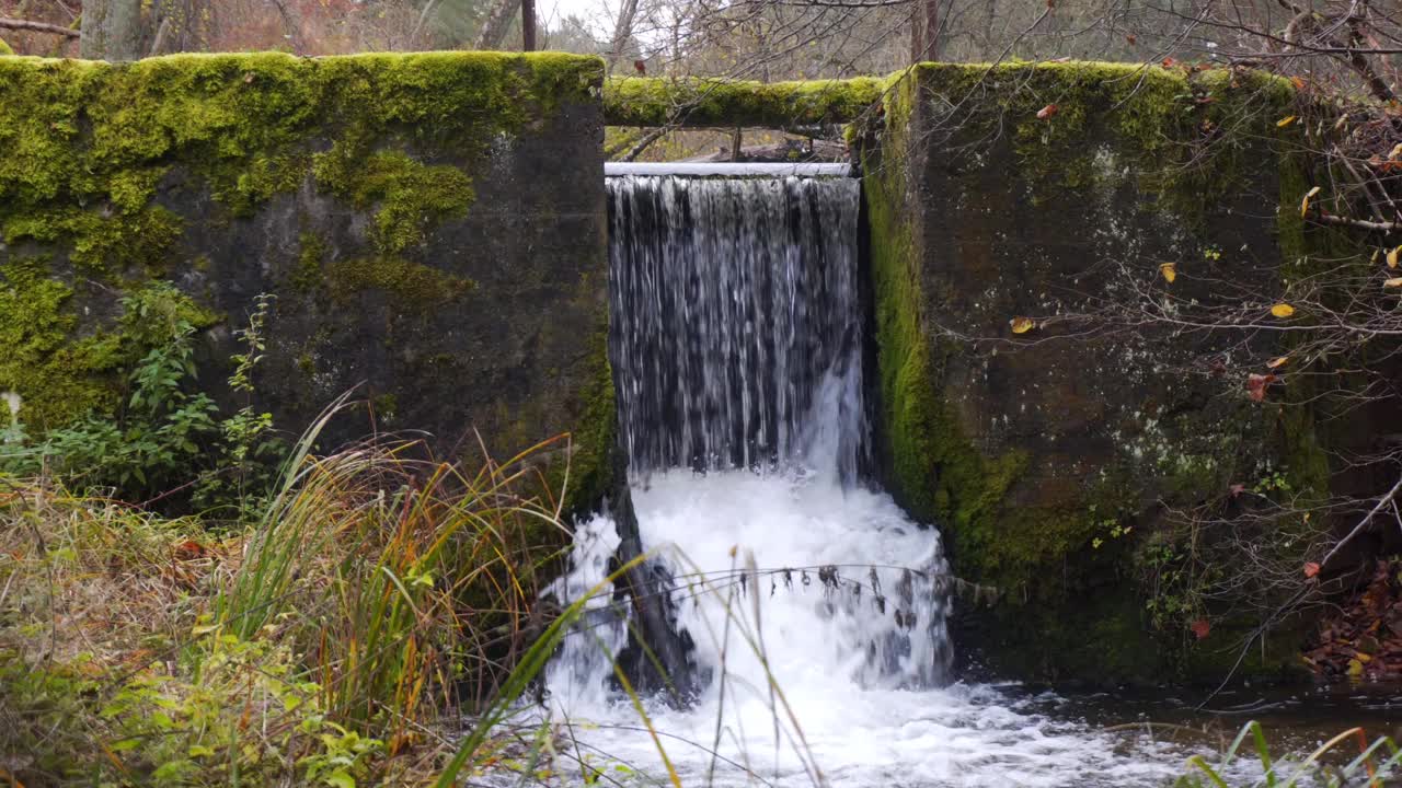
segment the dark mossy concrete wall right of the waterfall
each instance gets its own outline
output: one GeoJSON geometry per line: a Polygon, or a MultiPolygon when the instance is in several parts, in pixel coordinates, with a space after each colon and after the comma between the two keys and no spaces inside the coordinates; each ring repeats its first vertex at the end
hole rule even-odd
{"type": "MultiPolygon", "coordinates": [[[[1221,679],[1237,659],[1232,621],[1199,642],[1155,616],[1175,602],[1150,587],[1155,538],[1272,470],[1319,484],[1322,460],[1298,415],[1204,363],[1267,338],[1150,315],[1269,308],[1307,188],[1277,128],[1291,101],[1251,72],[925,64],[858,130],[885,475],[998,589],[956,634],[994,672],[1221,679]],[[1140,325],[1108,313],[1136,303],[1140,325]],[[1014,332],[1022,315],[1037,327],[1014,332]]],[[[1286,641],[1246,670],[1288,670],[1286,641]]]]}

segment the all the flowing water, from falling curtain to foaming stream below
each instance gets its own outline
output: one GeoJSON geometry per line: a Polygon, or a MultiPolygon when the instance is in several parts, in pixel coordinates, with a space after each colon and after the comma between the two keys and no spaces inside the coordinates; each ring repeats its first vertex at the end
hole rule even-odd
{"type": "MultiPolygon", "coordinates": [[[[604,516],[552,593],[590,589],[548,714],[610,781],[1144,785],[1172,754],[952,683],[939,534],[862,484],[857,185],[610,178],[614,367],[645,550],[674,578],[700,697],[620,690],[628,603],[604,516]]],[[[568,767],[566,767],[568,768],[568,767]]],[[[578,780],[579,767],[573,775],[578,780]]],[[[565,782],[569,782],[566,780],[565,782]]]]}

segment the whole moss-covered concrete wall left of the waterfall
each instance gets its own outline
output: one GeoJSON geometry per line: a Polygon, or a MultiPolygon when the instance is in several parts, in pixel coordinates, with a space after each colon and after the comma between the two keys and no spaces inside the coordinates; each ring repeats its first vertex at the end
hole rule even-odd
{"type": "Polygon", "coordinates": [[[0,59],[0,390],[31,432],[111,411],[119,299],[151,279],[217,315],[217,390],[271,293],[278,425],[355,388],[444,456],[573,430],[587,485],[613,419],[601,80],[568,55],[0,59]]]}

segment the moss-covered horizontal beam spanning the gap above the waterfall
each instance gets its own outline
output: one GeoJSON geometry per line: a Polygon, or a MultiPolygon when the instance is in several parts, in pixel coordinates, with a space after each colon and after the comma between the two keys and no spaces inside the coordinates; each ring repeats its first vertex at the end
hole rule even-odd
{"type": "Polygon", "coordinates": [[[614,126],[805,126],[855,121],[880,101],[873,77],[753,83],[716,79],[613,79],[604,122],[614,126]]]}

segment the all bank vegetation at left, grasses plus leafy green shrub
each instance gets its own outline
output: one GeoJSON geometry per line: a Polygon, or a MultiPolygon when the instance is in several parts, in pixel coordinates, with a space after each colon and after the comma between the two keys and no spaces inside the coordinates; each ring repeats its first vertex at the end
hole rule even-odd
{"type": "MultiPolygon", "coordinates": [[[[266,299],[223,415],[195,379],[189,299],[125,301],[126,388],[31,435],[0,430],[0,777],[229,785],[436,775],[551,621],[566,540],[533,460],[435,461],[380,439],[313,454],[255,411],[266,299]]],[[[558,630],[558,628],[557,628],[558,630]]],[[[544,648],[544,646],[540,646],[544,648]]],[[[474,757],[505,759],[505,742],[474,757]]],[[[471,761],[477,763],[477,761],[471,761]]]]}

